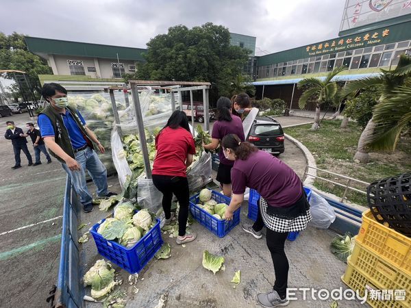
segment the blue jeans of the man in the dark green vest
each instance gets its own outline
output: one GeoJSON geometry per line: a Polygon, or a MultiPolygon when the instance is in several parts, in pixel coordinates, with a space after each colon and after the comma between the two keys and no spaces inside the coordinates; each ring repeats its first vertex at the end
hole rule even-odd
{"type": "Polygon", "coordinates": [[[71,177],[75,191],[80,196],[80,202],[83,205],[92,203],[92,196],[87,188],[86,169],[92,181],[97,186],[97,196],[108,194],[107,169],[97,156],[97,153],[90,148],[75,153],[75,160],[80,165],[81,170],[72,171],[66,164],[62,164],[64,170],[71,177]]]}

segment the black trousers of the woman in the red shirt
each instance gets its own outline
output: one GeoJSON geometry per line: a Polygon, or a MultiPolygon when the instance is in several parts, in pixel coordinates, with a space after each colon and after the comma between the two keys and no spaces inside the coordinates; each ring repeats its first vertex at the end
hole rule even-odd
{"type": "Polygon", "coordinates": [[[186,235],[188,198],[190,198],[187,178],[172,177],[169,175],[153,175],[153,183],[155,187],[163,194],[162,207],[164,209],[166,219],[171,217],[171,200],[173,199],[173,194],[177,198],[179,203],[178,235],[186,235]]]}

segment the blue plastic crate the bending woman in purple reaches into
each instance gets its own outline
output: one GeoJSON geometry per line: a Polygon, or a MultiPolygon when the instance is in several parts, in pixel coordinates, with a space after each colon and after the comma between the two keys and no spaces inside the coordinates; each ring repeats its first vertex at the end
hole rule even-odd
{"type": "MultiPolygon", "coordinates": [[[[226,203],[227,205],[229,205],[231,201],[231,198],[214,190],[211,191],[211,198],[217,203],[226,203]]],[[[208,230],[212,231],[212,233],[219,236],[219,238],[223,238],[231,229],[240,223],[240,208],[234,211],[232,220],[219,220],[210,215],[207,211],[201,209],[201,207],[198,207],[197,203],[199,203],[199,200],[199,194],[190,197],[190,211],[192,217],[208,230]]]]}

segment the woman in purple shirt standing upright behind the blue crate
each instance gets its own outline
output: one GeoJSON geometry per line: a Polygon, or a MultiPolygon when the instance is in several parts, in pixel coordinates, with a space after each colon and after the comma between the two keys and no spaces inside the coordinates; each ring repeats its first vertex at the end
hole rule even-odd
{"type": "MultiPolygon", "coordinates": [[[[244,129],[238,116],[232,115],[232,104],[227,97],[220,97],[217,101],[217,120],[212,127],[210,144],[203,144],[204,149],[214,150],[219,147],[221,140],[229,133],[235,133],[241,141],[244,141],[244,129]]],[[[216,180],[221,183],[225,196],[231,197],[231,169],[234,165],[229,159],[225,159],[223,151],[219,152],[220,164],[216,180]]]]}

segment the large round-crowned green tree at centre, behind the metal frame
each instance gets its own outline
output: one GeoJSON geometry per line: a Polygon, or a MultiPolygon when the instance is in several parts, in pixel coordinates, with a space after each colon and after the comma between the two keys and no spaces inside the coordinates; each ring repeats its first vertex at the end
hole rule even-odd
{"type": "Polygon", "coordinates": [[[147,43],[147,62],[138,65],[127,79],[208,81],[210,97],[229,97],[232,82],[242,72],[249,51],[229,44],[229,31],[221,25],[206,23],[188,29],[170,27],[147,43]]]}

